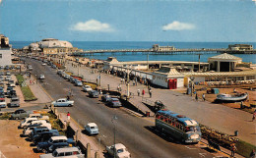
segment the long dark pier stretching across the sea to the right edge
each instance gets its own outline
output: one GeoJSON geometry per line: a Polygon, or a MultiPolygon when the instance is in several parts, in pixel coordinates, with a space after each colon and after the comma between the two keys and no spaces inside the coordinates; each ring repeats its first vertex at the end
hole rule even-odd
{"type": "Polygon", "coordinates": [[[201,48],[201,49],[172,49],[172,50],[155,50],[150,49],[99,49],[99,50],[85,50],[83,52],[70,53],[73,56],[85,56],[95,53],[147,53],[153,55],[175,55],[175,54],[215,54],[215,53],[228,53],[228,54],[256,54],[256,49],[253,50],[230,50],[228,48],[201,48]]]}

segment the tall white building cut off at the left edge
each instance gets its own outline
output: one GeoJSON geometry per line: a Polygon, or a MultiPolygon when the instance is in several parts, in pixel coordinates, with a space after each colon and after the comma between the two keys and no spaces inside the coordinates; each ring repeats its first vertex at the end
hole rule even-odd
{"type": "Polygon", "coordinates": [[[0,34],[0,65],[12,65],[12,47],[9,38],[0,34]]]}

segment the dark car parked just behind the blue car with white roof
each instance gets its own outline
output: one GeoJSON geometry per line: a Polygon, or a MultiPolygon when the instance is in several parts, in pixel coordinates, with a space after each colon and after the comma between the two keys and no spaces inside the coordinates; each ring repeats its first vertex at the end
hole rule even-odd
{"type": "Polygon", "coordinates": [[[38,142],[48,141],[51,136],[58,136],[59,132],[57,130],[50,130],[49,132],[40,132],[32,137],[32,143],[37,144],[38,142]]]}

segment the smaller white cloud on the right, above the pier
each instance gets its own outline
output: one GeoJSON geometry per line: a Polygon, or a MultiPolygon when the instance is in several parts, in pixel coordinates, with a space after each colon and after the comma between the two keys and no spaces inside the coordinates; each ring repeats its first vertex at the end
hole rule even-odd
{"type": "Polygon", "coordinates": [[[194,29],[196,26],[187,23],[180,23],[178,21],[174,21],[171,24],[167,24],[162,26],[162,30],[186,30],[186,29],[194,29]]]}

